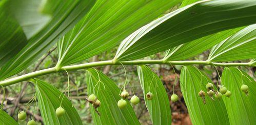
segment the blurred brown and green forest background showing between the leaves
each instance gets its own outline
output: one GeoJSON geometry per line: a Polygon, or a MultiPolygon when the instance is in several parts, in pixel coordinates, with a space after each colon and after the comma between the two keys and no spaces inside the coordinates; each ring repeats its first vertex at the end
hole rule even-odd
{"type": "MultiPolygon", "coordinates": [[[[115,50],[117,48],[107,51],[101,55],[94,56],[90,59],[84,60],[82,63],[89,63],[93,61],[102,61],[102,60],[110,60],[114,57],[115,50]]],[[[206,51],[196,57],[190,58],[190,60],[205,60],[207,59],[209,52],[206,51]]],[[[40,60],[38,60],[35,64],[30,66],[28,69],[19,73],[18,75],[23,75],[29,72],[33,72],[36,70],[42,70],[46,68],[54,67],[57,63],[57,50],[56,47],[53,47],[47,54],[45,54],[40,60]]],[[[146,57],[145,59],[161,59],[164,57],[163,53],[157,53],[156,55],[152,55],[146,57]]],[[[245,60],[247,62],[247,60],[245,60]]],[[[171,66],[169,65],[149,65],[150,68],[162,79],[163,85],[166,89],[166,92],[170,98],[173,93],[173,84],[175,81],[175,74],[171,66]]],[[[198,66],[199,69],[203,70],[216,84],[218,80],[218,74],[213,66],[198,66]]],[[[105,67],[95,67],[98,70],[103,71],[107,76],[109,76],[113,81],[115,81],[116,85],[120,88],[124,84],[125,81],[125,73],[122,66],[105,66],[105,67]]],[[[141,89],[139,77],[137,77],[136,66],[125,66],[127,71],[127,79],[128,82],[132,85],[134,92],[137,96],[140,97],[141,102],[140,105],[133,106],[134,111],[139,118],[142,124],[152,124],[149,114],[147,112],[143,92],[141,89]]],[[[182,66],[174,66],[174,70],[178,77],[178,84],[174,87],[174,91],[179,95],[179,101],[171,102],[171,112],[172,112],[172,124],[191,124],[189,119],[189,114],[180,90],[180,70],[182,66]]],[[[216,67],[220,73],[222,74],[223,67],[216,67]]],[[[240,67],[243,71],[246,71],[251,77],[255,79],[255,70],[256,68],[248,68],[248,67],[240,67]]],[[[73,106],[77,109],[78,113],[81,116],[84,124],[93,124],[90,110],[89,110],[89,102],[86,101],[87,97],[87,86],[86,86],[86,71],[72,71],[69,72],[70,77],[70,92],[71,96],[69,97],[73,103],[73,106]]],[[[44,75],[38,77],[40,79],[44,79],[45,81],[53,84],[55,87],[63,91],[67,87],[68,77],[66,72],[54,73],[49,75],[44,75]]],[[[127,91],[132,95],[131,86],[127,85],[127,91]]],[[[6,101],[4,110],[9,113],[14,119],[17,120],[17,113],[23,110],[26,107],[27,102],[34,96],[35,90],[33,84],[29,82],[22,82],[22,84],[15,84],[9,87],[6,87],[6,101]]],[[[3,92],[1,92],[3,94],[3,92]]],[[[2,95],[0,96],[2,99],[2,95]]],[[[34,106],[30,106],[27,112],[30,117],[33,115],[34,106]]],[[[42,117],[40,112],[38,111],[38,107],[34,118],[37,122],[42,122],[42,117]]],[[[23,124],[22,122],[20,122],[23,124]]]]}

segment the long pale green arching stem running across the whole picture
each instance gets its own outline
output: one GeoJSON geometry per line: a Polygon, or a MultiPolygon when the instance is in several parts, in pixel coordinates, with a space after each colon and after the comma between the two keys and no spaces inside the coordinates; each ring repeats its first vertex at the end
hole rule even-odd
{"type": "Polygon", "coordinates": [[[255,64],[250,63],[211,63],[209,61],[163,61],[162,59],[155,59],[155,60],[132,60],[132,61],[121,61],[114,63],[112,60],[107,61],[96,61],[92,63],[80,64],[80,65],[72,65],[72,66],[65,66],[60,70],[56,70],[55,68],[48,68],[40,71],[31,72],[25,75],[17,76],[14,78],[10,78],[7,80],[0,81],[0,85],[6,87],[13,84],[16,84],[21,81],[29,80],[30,78],[34,78],[37,76],[42,76],[46,74],[61,72],[66,69],[67,71],[71,70],[81,70],[91,67],[99,67],[99,66],[107,66],[107,65],[143,65],[143,64],[167,64],[171,63],[172,65],[211,65],[211,66],[249,66],[249,67],[256,67],[255,64]]]}

